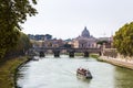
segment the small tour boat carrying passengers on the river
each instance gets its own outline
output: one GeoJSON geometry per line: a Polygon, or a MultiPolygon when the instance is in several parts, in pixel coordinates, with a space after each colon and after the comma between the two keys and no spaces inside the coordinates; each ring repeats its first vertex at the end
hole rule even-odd
{"type": "Polygon", "coordinates": [[[78,78],[92,79],[92,75],[91,75],[90,70],[85,69],[85,68],[78,68],[76,76],[78,76],[78,78]]]}

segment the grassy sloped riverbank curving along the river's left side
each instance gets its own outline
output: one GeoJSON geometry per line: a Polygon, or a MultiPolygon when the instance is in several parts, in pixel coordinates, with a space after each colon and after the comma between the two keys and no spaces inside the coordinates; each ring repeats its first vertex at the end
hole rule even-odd
{"type": "Polygon", "coordinates": [[[4,62],[0,66],[0,88],[14,88],[18,67],[28,61],[28,57],[22,56],[4,62]]]}

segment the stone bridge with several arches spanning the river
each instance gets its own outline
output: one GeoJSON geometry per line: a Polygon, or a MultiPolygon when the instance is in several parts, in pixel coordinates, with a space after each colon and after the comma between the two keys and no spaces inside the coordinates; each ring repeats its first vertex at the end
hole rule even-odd
{"type": "Polygon", "coordinates": [[[60,57],[60,54],[69,54],[70,57],[74,57],[74,53],[83,53],[84,57],[89,57],[90,53],[101,55],[101,48],[66,48],[66,47],[37,47],[33,51],[38,52],[40,56],[44,57],[47,53],[54,54],[54,57],[60,57]]]}

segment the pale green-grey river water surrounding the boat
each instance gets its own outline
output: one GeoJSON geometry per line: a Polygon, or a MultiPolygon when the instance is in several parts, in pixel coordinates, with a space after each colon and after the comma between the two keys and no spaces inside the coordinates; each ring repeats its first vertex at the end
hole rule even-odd
{"type": "Polygon", "coordinates": [[[20,88],[133,88],[133,70],[91,57],[47,56],[29,62],[19,74],[17,84],[20,88]],[[79,79],[79,67],[89,68],[93,78],[79,79]]]}

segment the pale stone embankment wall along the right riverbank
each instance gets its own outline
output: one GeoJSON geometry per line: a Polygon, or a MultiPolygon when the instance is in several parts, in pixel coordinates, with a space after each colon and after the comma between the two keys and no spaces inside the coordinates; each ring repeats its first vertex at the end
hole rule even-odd
{"type": "Polygon", "coordinates": [[[124,57],[123,55],[120,55],[115,48],[104,48],[102,51],[102,56],[100,56],[98,59],[120,67],[133,69],[132,57],[124,57]]]}

